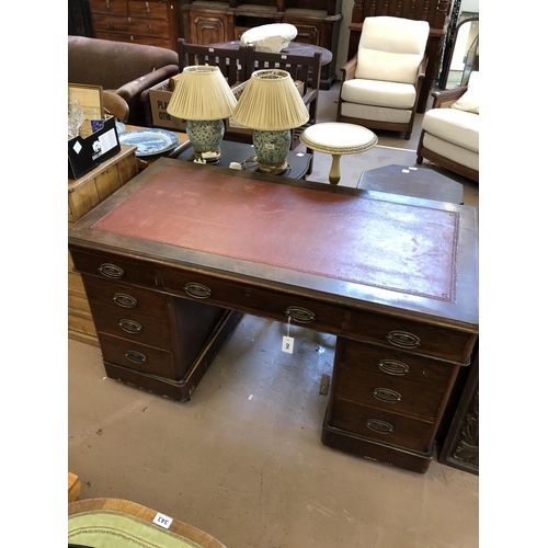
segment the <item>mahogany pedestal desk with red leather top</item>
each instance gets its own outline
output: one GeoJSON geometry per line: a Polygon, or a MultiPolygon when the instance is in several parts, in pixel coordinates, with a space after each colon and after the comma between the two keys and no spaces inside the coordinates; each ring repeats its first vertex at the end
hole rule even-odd
{"type": "Polygon", "coordinates": [[[69,231],[106,374],[187,400],[239,313],[290,318],[338,338],[323,444],[425,472],[478,338],[477,209],[384,196],[158,160],[69,231]]]}

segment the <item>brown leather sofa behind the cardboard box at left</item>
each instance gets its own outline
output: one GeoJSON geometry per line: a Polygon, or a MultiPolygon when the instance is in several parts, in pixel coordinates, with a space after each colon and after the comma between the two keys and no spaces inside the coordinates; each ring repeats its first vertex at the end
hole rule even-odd
{"type": "Polygon", "coordinates": [[[68,37],[68,82],[102,85],[129,105],[128,124],[146,126],[140,94],[179,72],[176,52],[126,42],[68,37]]]}

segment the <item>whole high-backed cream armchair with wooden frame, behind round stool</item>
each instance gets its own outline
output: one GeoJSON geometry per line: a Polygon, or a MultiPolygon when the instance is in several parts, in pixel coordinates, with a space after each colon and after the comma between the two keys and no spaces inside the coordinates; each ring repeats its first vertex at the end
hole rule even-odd
{"type": "Polygon", "coordinates": [[[366,18],[357,54],[342,68],[338,122],[411,137],[426,69],[426,21],[366,18]]]}

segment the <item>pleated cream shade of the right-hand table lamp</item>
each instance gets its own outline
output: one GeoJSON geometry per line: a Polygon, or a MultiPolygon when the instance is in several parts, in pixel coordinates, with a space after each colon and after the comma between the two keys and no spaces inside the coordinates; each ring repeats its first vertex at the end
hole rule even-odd
{"type": "Polygon", "coordinates": [[[279,69],[255,70],[232,113],[237,124],[273,132],[299,127],[308,118],[293,78],[279,69]]]}

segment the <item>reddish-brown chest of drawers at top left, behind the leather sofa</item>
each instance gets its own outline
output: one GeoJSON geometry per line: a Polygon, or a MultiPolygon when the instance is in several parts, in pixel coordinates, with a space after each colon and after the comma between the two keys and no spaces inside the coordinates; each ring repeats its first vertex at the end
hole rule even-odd
{"type": "Polygon", "coordinates": [[[95,38],[160,46],[176,52],[176,0],[89,0],[95,38]]]}

